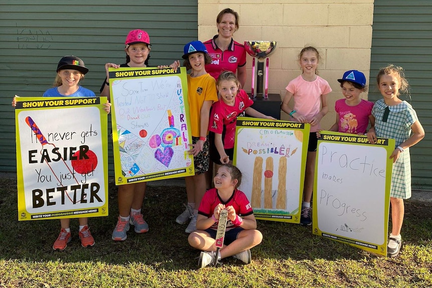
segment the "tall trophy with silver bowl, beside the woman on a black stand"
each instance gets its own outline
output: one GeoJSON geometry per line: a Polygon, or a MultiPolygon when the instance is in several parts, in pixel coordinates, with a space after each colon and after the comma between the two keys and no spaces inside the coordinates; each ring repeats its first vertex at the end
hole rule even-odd
{"type": "Polygon", "coordinates": [[[276,50],[276,41],[245,41],[245,49],[252,59],[252,95],[258,94],[263,98],[269,97],[269,56],[276,50]],[[255,69],[255,58],[257,58],[257,69],[255,69]],[[266,69],[264,70],[264,60],[266,69]],[[264,93],[263,93],[264,91],[264,93]]]}

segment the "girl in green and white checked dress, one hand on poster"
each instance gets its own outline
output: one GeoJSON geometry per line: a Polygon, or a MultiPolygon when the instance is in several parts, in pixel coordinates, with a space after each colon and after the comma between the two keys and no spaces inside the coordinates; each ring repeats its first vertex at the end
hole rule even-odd
{"type": "Polygon", "coordinates": [[[383,99],[376,101],[373,106],[375,127],[367,132],[367,138],[372,144],[376,143],[377,137],[396,140],[395,149],[390,155],[393,159],[390,188],[392,229],[387,245],[387,254],[396,257],[402,243],[403,199],[411,197],[409,147],[423,139],[424,130],[412,106],[399,99],[400,92],[407,93],[408,88],[403,69],[390,64],[380,69],[376,81],[383,99]]]}

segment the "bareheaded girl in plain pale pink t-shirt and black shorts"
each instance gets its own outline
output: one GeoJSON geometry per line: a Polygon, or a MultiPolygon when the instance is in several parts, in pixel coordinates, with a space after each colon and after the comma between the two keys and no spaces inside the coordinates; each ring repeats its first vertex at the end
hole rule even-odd
{"type": "Polygon", "coordinates": [[[288,113],[291,121],[311,124],[309,136],[308,156],[303,193],[300,223],[312,224],[312,207],[310,206],[317,150],[316,132],[320,129],[320,121],[328,112],[327,95],[332,91],[328,82],[317,75],[319,53],[314,47],[305,47],[300,52],[299,64],[302,75],[290,81],[286,87],[287,93],[282,101],[281,109],[288,113]],[[294,108],[289,105],[294,100],[294,108]]]}

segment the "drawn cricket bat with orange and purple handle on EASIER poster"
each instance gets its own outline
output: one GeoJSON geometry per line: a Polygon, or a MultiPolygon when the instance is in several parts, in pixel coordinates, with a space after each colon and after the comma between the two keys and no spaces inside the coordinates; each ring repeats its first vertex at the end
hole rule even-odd
{"type": "MultiPolygon", "coordinates": [[[[39,142],[42,145],[42,149],[40,152],[41,154],[43,153],[44,149],[47,149],[47,150],[50,149],[47,146],[52,147],[52,149],[57,148],[56,145],[49,143],[47,141],[47,139],[45,138],[45,136],[42,134],[41,130],[39,129],[38,125],[36,125],[35,121],[33,121],[33,119],[30,116],[26,117],[26,123],[27,123],[27,125],[29,125],[29,127],[32,129],[32,131],[35,133],[36,137],[38,138],[39,142]]],[[[57,181],[59,182],[59,186],[63,186],[63,187],[65,186],[62,183],[61,175],[58,175],[61,171],[66,172],[66,173],[67,173],[67,171],[69,171],[71,173],[73,179],[75,180],[75,182],[78,185],[80,185],[78,180],[75,178],[75,175],[73,174],[71,168],[69,168],[68,164],[65,162],[63,157],[61,157],[61,160],[59,160],[57,162],[51,162],[51,163],[45,159],[45,163],[47,163],[48,167],[50,167],[51,172],[53,172],[54,177],[56,177],[57,181]],[[57,172],[57,174],[56,174],[56,172],[57,172]]],[[[72,199],[69,197],[67,192],[66,192],[66,195],[72,201],[72,199]]],[[[75,202],[72,201],[72,202],[76,203],[76,201],[75,202]]]]}

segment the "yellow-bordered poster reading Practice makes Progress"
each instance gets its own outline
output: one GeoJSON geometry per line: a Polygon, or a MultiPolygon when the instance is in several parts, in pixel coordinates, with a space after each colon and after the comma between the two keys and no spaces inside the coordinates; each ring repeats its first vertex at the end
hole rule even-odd
{"type": "Polygon", "coordinates": [[[323,131],[318,140],[313,233],[387,254],[394,139],[323,131]]]}

